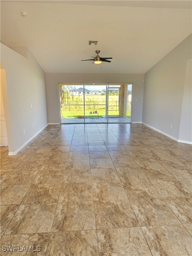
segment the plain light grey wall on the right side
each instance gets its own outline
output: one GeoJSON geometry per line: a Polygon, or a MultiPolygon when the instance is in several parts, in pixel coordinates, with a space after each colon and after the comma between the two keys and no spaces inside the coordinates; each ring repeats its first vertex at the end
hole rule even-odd
{"type": "MultiPolygon", "coordinates": [[[[187,61],[191,59],[191,35],[176,46],[162,60],[145,74],[143,123],[179,139],[181,122],[184,126],[191,122],[191,84],[188,88],[188,103],[184,96],[187,61]],[[184,112],[182,113],[182,107],[184,112]],[[172,128],[171,128],[172,125],[172,128]]],[[[188,129],[186,141],[191,141],[191,131],[188,129]]]]}

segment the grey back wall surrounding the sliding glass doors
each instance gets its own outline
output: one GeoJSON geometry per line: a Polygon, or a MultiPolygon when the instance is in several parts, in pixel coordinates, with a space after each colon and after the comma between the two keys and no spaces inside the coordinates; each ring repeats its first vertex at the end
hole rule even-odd
{"type": "Polygon", "coordinates": [[[48,123],[59,123],[58,83],[133,83],[132,122],[142,121],[144,74],[46,73],[48,123]]]}

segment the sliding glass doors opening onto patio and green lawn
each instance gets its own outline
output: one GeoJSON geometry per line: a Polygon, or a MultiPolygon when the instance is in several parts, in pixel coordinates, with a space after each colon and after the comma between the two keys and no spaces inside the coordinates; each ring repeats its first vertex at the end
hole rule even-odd
{"type": "Polygon", "coordinates": [[[130,123],[132,84],[59,83],[60,123],[130,123]]]}

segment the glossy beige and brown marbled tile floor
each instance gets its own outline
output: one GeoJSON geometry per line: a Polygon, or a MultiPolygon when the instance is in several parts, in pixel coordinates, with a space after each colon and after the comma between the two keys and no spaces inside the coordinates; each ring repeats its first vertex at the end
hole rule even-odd
{"type": "Polygon", "coordinates": [[[49,125],[15,156],[1,147],[1,246],[41,246],[1,255],[191,256],[191,160],[142,124],[49,125]]]}

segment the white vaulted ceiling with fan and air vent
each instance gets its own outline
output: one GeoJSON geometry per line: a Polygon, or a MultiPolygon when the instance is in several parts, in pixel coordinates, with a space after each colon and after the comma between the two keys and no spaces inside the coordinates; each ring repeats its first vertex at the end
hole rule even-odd
{"type": "Polygon", "coordinates": [[[145,73],[192,32],[191,3],[1,1],[1,41],[27,46],[45,72],[145,73]],[[111,63],[81,61],[95,50],[111,63]]]}

